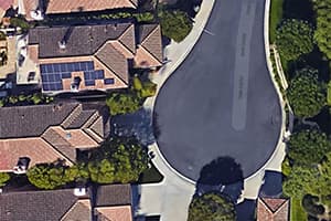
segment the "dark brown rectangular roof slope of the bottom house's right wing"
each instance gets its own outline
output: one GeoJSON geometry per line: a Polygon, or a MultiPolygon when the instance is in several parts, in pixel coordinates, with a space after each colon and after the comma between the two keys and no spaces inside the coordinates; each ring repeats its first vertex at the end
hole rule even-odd
{"type": "Polygon", "coordinates": [[[96,207],[128,206],[131,204],[130,185],[99,186],[96,196],[96,207]]]}

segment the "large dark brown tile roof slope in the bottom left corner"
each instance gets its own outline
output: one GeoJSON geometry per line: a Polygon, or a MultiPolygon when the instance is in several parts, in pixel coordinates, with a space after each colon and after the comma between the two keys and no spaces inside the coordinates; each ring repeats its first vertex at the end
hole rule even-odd
{"type": "MultiPolygon", "coordinates": [[[[77,207],[73,189],[9,192],[0,194],[1,221],[57,221],[65,214],[87,214],[88,207],[77,207]],[[74,207],[74,208],[73,208],[74,207]]],[[[84,204],[83,204],[84,206],[84,204]]],[[[79,218],[79,217],[77,217],[79,218]]],[[[64,217],[64,220],[65,219],[64,217]]],[[[79,221],[89,221],[88,217],[79,221]]]]}

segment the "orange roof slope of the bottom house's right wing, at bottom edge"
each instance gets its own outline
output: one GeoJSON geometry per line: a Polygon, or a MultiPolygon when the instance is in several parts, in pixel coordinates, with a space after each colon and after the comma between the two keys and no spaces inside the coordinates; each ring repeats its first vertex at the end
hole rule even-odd
{"type": "Polygon", "coordinates": [[[98,221],[132,221],[131,206],[96,208],[98,221]]]}

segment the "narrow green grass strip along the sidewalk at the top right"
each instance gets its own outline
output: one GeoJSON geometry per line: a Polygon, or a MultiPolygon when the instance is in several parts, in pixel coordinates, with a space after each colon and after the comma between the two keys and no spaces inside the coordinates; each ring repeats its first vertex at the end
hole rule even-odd
{"type": "Polygon", "coordinates": [[[270,21],[269,21],[269,36],[270,43],[276,41],[277,27],[282,19],[282,2],[284,0],[271,0],[270,6],[270,21]]]}

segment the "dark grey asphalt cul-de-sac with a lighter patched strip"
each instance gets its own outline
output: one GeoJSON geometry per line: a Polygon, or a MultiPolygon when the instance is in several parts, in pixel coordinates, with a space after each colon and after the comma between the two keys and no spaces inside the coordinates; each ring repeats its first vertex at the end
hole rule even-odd
{"type": "Polygon", "coordinates": [[[281,109],[265,59],[264,4],[216,0],[204,33],[157,97],[159,149],[193,181],[225,156],[249,177],[278,143],[281,109]]]}

